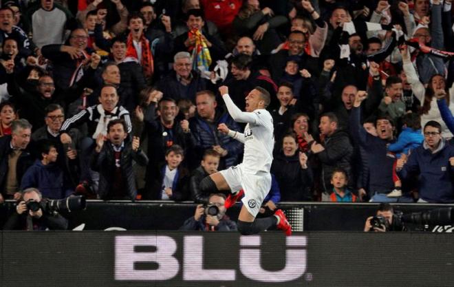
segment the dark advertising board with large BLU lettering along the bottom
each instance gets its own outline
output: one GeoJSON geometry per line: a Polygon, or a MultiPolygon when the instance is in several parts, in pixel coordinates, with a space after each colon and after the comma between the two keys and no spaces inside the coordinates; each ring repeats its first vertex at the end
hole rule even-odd
{"type": "Polygon", "coordinates": [[[453,286],[440,233],[7,232],[0,286],[453,286]]]}

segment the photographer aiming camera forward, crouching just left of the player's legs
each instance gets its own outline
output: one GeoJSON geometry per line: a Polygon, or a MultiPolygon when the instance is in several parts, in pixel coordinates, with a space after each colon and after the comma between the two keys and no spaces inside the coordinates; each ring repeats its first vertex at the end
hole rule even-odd
{"type": "Polygon", "coordinates": [[[237,224],[226,215],[224,203],[226,195],[212,193],[208,198],[208,204],[197,205],[194,216],[188,218],[182,231],[237,231],[237,224]]]}

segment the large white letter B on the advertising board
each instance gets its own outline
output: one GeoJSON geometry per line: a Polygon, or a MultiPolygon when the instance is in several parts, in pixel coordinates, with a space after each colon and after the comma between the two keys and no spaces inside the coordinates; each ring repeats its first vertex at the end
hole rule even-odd
{"type": "Polygon", "coordinates": [[[115,279],[116,280],[169,280],[180,270],[180,264],[173,257],[177,244],[169,236],[116,236],[115,237],[115,279]],[[135,246],[155,247],[153,252],[137,252],[135,246]],[[157,269],[137,270],[136,262],[155,262],[157,269]]]}

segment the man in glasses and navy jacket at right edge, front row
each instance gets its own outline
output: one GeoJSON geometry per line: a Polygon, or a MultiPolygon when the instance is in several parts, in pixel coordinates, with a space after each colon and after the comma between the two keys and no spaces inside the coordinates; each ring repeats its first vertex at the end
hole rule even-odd
{"type": "Polygon", "coordinates": [[[411,151],[408,159],[396,164],[398,176],[407,179],[418,175],[418,202],[454,202],[454,147],[441,136],[441,125],[430,120],[424,125],[424,142],[411,151]]]}

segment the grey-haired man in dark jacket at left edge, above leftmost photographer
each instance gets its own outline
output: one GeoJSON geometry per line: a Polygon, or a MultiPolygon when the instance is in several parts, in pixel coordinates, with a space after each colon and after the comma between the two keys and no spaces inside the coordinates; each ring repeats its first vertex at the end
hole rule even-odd
{"type": "Polygon", "coordinates": [[[3,199],[21,198],[19,185],[33,158],[27,146],[32,135],[32,125],[27,120],[14,120],[11,136],[0,138],[0,203],[3,199]]]}

